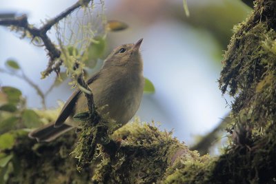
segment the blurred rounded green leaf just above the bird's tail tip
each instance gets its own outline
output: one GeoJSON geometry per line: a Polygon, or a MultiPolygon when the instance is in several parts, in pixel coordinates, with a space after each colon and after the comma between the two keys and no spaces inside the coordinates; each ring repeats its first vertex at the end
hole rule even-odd
{"type": "Polygon", "coordinates": [[[39,119],[39,115],[33,110],[24,110],[22,114],[22,123],[28,128],[40,127],[43,125],[39,119]]]}

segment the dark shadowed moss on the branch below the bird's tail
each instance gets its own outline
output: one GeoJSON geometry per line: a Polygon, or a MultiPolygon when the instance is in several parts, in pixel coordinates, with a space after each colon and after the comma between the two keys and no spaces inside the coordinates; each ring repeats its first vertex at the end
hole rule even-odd
{"type": "Polygon", "coordinates": [[[17,137],[12,150],[6,150],[14,155],[7,183],[88,183],[91,168],[77,172],[77,160],[69,155],[75,139],[75,132],[51,143],[37,143],[27,134],[17,137]]]}

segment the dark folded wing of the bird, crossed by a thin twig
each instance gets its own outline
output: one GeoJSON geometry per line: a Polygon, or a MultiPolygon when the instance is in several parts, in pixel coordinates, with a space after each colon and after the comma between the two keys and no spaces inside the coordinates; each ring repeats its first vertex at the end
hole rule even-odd
{"type": "MultiPolygon", "coordinates": [[[[95,81],[99,77],[99,72],[94,74],[90,79],[88,79],[87,83],[88,85],[95,81]]],[[[70,98],[66,101],[64,104],[57,121],[55,122],[55,127],[60,127],[64,121],[70,116],[70,114],[73,112],[75,105],[77,103],[77,100],[79,99],[79,94],[81,94],[81,90],[75,90],[73,94],[70,96],[70,98]]]]}

